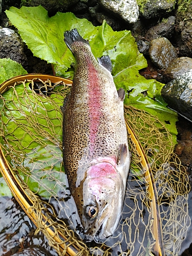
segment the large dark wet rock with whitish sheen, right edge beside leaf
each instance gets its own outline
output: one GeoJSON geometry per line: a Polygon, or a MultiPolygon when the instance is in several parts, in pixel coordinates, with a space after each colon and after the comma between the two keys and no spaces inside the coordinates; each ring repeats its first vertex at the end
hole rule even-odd
{"type": "Polygon", "coordinates": [[[192,70],[168,82],[161,95],[171,109],[192,121],[192,70]]]}

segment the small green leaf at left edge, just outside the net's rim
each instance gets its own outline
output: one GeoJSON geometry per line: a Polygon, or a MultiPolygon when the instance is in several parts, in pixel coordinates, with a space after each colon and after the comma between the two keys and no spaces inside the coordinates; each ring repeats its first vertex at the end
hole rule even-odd
{"type": "Polygon", "coordinates": [[[25,75],[27,71],[14,60],[0,59],[0,84],[13,76],[25,75]]]}

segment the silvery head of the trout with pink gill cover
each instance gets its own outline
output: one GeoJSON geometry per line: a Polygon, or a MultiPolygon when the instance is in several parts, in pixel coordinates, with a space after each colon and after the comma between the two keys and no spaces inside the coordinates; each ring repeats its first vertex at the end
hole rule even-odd
{"type": "Polygon", "coordinates": [[[125,189],[121,176],[110,163],[94,165],[88,174],[83,184],[82,225],[87,240],[102,242],[117,228],[125,189]],[[98,176],[105,170],[105,176],[98,176]]]}

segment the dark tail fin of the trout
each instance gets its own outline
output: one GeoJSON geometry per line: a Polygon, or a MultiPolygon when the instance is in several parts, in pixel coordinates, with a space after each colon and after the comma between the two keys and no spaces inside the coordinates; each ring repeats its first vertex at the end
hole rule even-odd
{"type": "Polygon", "coordinates": [[[89,42],[87,40],[83,39],[79,35],[77,29],[72,29],[72,30],[64,32],[64,36],[65,36],[64,41],[70,50],[71,50],[71,45],[73,44],[73,42],[76,42],[76,41],[84,42],[85,44],[89,45],[89,42]]]}

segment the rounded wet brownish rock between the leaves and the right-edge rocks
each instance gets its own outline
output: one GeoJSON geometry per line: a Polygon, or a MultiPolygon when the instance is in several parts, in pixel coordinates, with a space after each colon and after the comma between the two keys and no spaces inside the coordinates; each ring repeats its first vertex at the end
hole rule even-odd
{"type": "Polygon", "coordinates": [[[169,63],[178,57],[177,50],[165,37],[152,40],[148,54],[159,69],[166,69],[169,63]]]}

